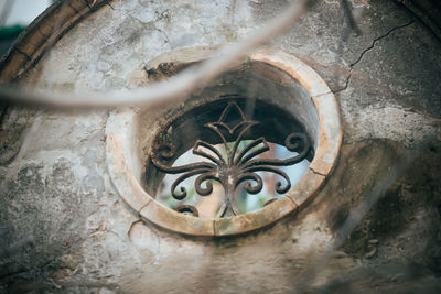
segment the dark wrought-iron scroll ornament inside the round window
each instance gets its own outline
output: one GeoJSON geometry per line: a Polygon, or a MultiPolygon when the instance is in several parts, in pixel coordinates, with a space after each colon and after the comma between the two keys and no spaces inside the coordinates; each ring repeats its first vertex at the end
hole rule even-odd
{"type": "MultiPolygon", "coordinates": [[[[248,120],[236,102],[228,102],[219,119],[216,122],[205,123],[204,127],[213,130],[222,140],[225,148],[226,156],[223,155],[214,145],[197,140],[193,146],[193,154],[203,156],[209,162],[201,161],[196,163],[185,164],[181,166],[168,166],[161,162],[170,161],[175,155],[175,148],[171,143],[161,143],[151,154],[151,161],[154,166],[163,173],[168,174],[182,174],[171,186],[172,196],[182,200],[186,197],[185,187],[178,186],[189,177],[196,176],[194,182],[195,190],[201,196],[208,196],[213,192],[213,184],[209,181],[216,181],[222,184],[225,192],[225,202],[222,205],[216,217],[223,217],[230,208],[234,215],[238,215],[238,208],[235,204],[236,188],[247,182],[245,189],[249,194],[257,194],[263,187],[262,178],[257,172],[270,172],[280,175],[284,183],[277,182],[276,192],[284,194],[291,188],[291,182],[288,175],[278,166],[289,166],[303,161],[311,148],[310,140],[305,133],[291,133],[286,138],[284,146],[291,151],[297,152],[298,155],[290,159],[263,159],[259,157],[260,154],[270,150],[267,140],[259,137],[248,143],[243,150],[238,150],[239,143],[245,134],[255,126],[259,124],[258,121],[248,120]],[[240,116],[241,121],[233,127],[229,127],[226,119],[228,113],[236,110],[240,116]],[[230,139],[230,140],[227,140],[230,139]],[[228,144],[230,142],[230,144],[228,144]],[[230,148],[233,145],[233,148],[230,148]],[[254,182],[254,184],[251,184],[254,182]],[[205,184],[205,185],[203,185],[205,184]]],[[[267,204],[273,202],[270,199],[267,204]]],[[[197,209],[194,206],[185,205],[176,209],[180,213],[190,213],[197,216],[197,209]]]]}

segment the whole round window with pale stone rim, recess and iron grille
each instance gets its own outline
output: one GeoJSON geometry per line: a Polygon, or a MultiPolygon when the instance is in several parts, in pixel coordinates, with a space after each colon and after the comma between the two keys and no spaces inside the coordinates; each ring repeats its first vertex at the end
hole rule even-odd
{"type": "MultiPolygon", "coordinates": [[[[206,48],[149,63],[149,79],[206,48]]],[[[146,221],[197,236],[255,230],[299,209],[332,172],[337,105],[292,55],[261,50],[179,105],[118,109],[107,123],[115,187],[146,221]]]]}

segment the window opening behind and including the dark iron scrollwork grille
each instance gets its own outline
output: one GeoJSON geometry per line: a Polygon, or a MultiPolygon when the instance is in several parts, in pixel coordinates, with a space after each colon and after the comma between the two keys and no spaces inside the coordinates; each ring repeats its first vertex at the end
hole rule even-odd
{"type": "Polygon", "coordinates": [[[176,211],[237,216],[284,195],[312,157],[309,134],[286,110],[230,95],[164,126],[153,142],[146,181],[155,199],[176,211]],[[157,176],[162,177],[159,185],[157,176]]]}

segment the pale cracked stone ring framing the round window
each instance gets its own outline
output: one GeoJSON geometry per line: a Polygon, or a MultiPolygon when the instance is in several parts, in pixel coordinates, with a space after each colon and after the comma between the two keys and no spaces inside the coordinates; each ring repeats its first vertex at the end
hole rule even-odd
{"type": "MultiPolygon", "coordinates": [[[[180,56],[185,58],[185,55],[180,56]]],[[[170,57],[170,54],[168,56],[170,57]]],[[[309,170],[287,194],[257,211],[216,219],[180,214],[155,202],[141,184],[142,176],[139,175],[144,166],[138,148],[139,141],[142,140],[138,133],[139,109],[117,109],[111,111],[106,126],[108,172],[119,195],[144,221],[193,236],[230,236],[252,231],[304,207],[333,171],[342,143],[342,129],[338,106],[326,83],[306,64],[277,48],[259,50],[248,58],[250,62],[265,63],[282,70],[299,81],[310,95],[319,117],[319,131],[315,155],[309,170]]],[[[198,56],[191,62],[202,59],[203,57],[198,56]]],[[[160,131],[154,124],[152,121],[151,132],[160,131]]]]}

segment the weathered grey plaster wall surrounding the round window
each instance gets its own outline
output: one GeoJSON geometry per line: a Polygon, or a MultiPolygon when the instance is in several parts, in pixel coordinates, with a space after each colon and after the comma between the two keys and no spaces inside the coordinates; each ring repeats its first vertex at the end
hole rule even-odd
{"type": "MultiPolygon", "coordinates": [[[[237,42],[286,4],[111,1],[66,33],[20,83],[72,92],[131,88],[155,56],[237,42]]],[[[346,33],[337,1],[319,1],[271,42],[330,85],[344,145],[312,204],[246,236],[185,237],[140,221],[106,171],[107,111],[9,108],[0,138],[0,288],[439,293],[441,45],[392,1],[352,6],[361,35],[346,33]],[[388,183],[344,246],[315,266],[349,211],[404,157],[411,159],[405,176],[388,183]]]]}

